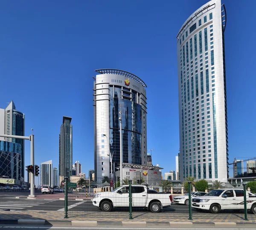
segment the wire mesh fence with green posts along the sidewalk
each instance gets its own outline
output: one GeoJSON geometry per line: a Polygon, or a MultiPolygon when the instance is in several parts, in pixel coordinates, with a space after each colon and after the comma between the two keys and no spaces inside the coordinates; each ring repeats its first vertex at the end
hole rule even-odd
{"type": "Polygon", "coordinates": [[[189,182],[180,194],[171,193],[172,186],[157,187],[151,181],[125,184],[111,187],[102,179],[66,179],[65,218],[256,219],[256,195],[245,184],[208,185],[196,191],[189,182]]]}

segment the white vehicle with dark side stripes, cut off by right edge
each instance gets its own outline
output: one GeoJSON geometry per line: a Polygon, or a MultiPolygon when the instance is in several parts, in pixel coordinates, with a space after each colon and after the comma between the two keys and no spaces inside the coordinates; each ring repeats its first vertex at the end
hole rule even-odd
{"type": "MultiPolygon", "coordinates": [[[[247,209],[256,214],[256,196],[246,191],[247,209]]],[[[205,196],[192,199],[192,207],[219,213],[223,209],[244,209],[244,190],[215,189],[205,196]]]]}

